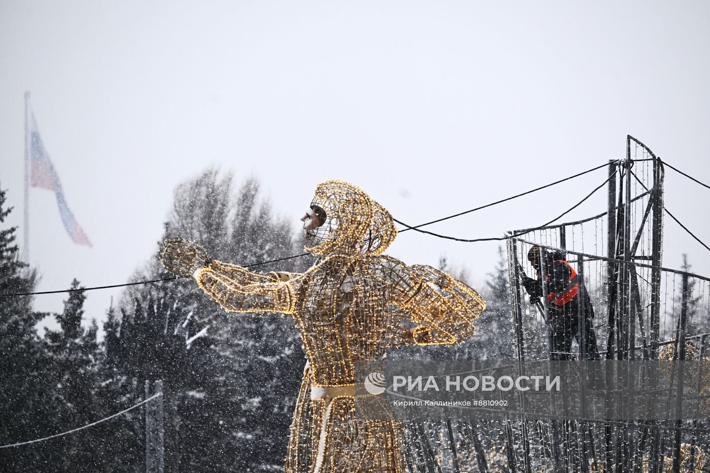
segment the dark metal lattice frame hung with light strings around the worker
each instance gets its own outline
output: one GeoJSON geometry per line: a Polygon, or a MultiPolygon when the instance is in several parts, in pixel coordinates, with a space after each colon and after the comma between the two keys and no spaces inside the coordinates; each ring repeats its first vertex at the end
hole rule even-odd
{"type": "MultiPolygon", "coordinates": [[[[508,241],[520,366],[523,360],[547,357],[547,327],[520,290],[520,255],[533,245],[562,251],[577,266],[597,309],[596,332],[606,342],[607,359],[705,359],[710,278],[662,267],[663,165],[633,136],[627,137],[626,151],[626,160],[609,165],[610,177],[616,176],[609,181],[606,212],[577,222],[516,230],[516,238],[508,241]],[[585,245],[592,249],[586,250],[585,245]],[[694,311],[701,317],[691,320],[694,311]]],[[[580,359],[583,354],[579,347],[580,359]]],[[[708,374],[698,366],[696,388],[703,393],[708,374]]],[[[679,417],[682,378],[675,388],[679,417]]],[[[652,382],[650,388],[655,386],[652,382]]],[[[706,421],[639,424],[522,418],[518,430],[520,442],[513,454],[525,472],[701,472],[710,466],[705,453],[710,450],[706,421]],[[530,435],[532,431],[545,434],[530,435]]]]}

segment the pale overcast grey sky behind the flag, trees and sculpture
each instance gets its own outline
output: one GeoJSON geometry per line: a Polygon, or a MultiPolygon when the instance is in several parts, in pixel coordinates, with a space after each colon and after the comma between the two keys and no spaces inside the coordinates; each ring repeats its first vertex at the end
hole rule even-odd
{"type": "MultiPolygon", "coordinates": [[[[23,94],[92,249],[31,190],[38,290],[123,283],[155,251],[173,188],[209,165],[256,175],[295,223],[315,185],[359,185],[410,224],[623,158],[626,134],[710,181],[710,2],[0,0],[0,185],[22,224],[23,94]]],[[[532,227],[606,170],[429,227],[532,227]]],[[[710,241],[710,190],[667,170],[666,205],[710,241]]],[[[605,210],[600,192],[569,217],[605,210]]],[[[481,286],[496,243],[402,234],[481,286]]],[[[665,266],[710,252],[670,219],[665,266]]],[[[238,261],[236,261],[238,262],[238,261]]],[[[88,294],[103,317],[118,290],[88,294]]],[[[35,299],[60,310],[65,295],[35,299]]]]}

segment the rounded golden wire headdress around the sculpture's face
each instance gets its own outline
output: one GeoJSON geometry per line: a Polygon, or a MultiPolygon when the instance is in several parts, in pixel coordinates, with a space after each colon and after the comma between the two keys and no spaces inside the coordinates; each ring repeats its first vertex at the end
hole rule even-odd
{"type": "Polygon", "coordinates": [[[312,254],[381,254],[397,236],[390,212],[342,180],[320,183],[311,205],[325,212],[314,243],[306,242],[305,249],[312,254]]]}

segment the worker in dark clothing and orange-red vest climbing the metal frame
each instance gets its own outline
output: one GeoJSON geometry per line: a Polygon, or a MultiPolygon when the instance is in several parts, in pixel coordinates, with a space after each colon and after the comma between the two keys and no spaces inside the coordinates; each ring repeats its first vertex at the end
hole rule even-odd
{"type": "Polygon", "coordinates": [[[547,252],[540,246],[532,246],[528,251],[528,261],[537,271],[537,279],[523,278],[523,287],[530,298],[547,296],[547,320],[550,322],[550,359],[571,359],[572,339],[584,344],[585,359],[600,359],[594,334],[594,308],[589,294],[584,288],[584,281],[564,260],[564,256],[547,252]],[[545,265],[542,267],[540,261],[545,265]],[[544,269],[545,290],[543,291],[542,270],[544,269]],[[584,337],[579,337],[579,320],[584,319],[584,337]]]}

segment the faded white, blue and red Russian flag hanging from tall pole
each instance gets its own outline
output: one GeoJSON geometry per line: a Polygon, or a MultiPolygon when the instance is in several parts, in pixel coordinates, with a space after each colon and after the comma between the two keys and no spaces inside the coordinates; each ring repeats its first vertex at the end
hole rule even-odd
{"type": "Polygon", "coordinates": [[[62,223],[69,236],[75,243],[92,246],[87,234],[84,233],[84,230],[74,218],[74,214],[69,210],[62,184],[59,182],[59,175],[57,175],[57,171],[42,143],[34,114],[31,114],[30,126],[30,185],[53,191],[57,197],[62,223]]]}

